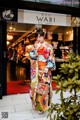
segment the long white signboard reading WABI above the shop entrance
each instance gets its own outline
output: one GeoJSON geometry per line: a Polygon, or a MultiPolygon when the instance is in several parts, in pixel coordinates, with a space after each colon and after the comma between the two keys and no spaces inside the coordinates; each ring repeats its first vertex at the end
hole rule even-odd
{"type": "Polygon", "coordinates": [[[18,22],[42,25],[70,26],[71,16],[49,12],[38,12],[29,10],[18,11],[18,22]]]}

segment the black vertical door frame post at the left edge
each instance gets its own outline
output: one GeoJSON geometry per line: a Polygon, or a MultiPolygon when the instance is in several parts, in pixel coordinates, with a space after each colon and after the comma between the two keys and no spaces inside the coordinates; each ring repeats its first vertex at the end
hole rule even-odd
{"type": "Polygon", "coordinates": [[[0,21],[0,96],[6,95],[7,83],[6,83],[6,21],[0,21]]]}

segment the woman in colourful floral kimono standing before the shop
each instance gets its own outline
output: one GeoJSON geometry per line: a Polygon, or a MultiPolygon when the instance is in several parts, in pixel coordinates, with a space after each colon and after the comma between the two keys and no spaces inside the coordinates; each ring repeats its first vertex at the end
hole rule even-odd
{"type": "Polygon", "coordinates": [[[32,106],[39,113],[45,112],[51,103],[52,86],[51,71],[55,69],[52,45],[45,41],[45,29],[35,30],[36,42],[29,55],[31,58],[31,90],[32,106]]]}

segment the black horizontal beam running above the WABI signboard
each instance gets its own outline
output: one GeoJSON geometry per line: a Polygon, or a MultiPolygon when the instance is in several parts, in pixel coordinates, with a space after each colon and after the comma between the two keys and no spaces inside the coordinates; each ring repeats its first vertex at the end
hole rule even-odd
{"type": "Polygon", "coordinates": [[[47,3],[37,3],[37,2],[30,2],[30,1],[1,0],[0,7],[70,14],[78,17],[80,16],[80,12],[79,12],[80,8],[53,5],[53,4],[47,4],[47,3]]]}

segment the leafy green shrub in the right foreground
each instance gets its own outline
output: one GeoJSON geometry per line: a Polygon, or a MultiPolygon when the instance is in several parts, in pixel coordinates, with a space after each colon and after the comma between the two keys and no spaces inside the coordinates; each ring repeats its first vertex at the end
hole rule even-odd
{"type": "Polygon", "coordinates": [[[80,120],[80,56],[69,53],[59,70],[60,74],[53,78],[57,82],[56,94],[60,93],[60,104],[51,104],[48,117],[50,120],[80,120]],[[64,97],[66,91],[70,93],[67,98],[64,97]]]}

